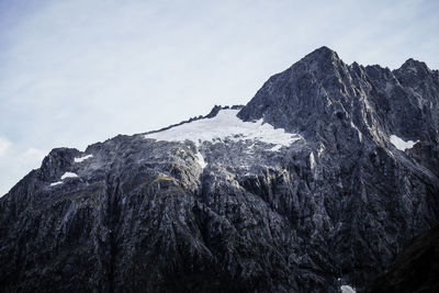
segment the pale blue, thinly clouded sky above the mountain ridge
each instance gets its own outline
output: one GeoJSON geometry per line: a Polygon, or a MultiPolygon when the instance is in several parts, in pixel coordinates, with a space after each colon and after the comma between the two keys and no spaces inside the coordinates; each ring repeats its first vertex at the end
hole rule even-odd
{"type": "Polygon", "coordinates": [[[328,46],[439,68],[439,1],[0,0],[0,196],[52,148],[245,104],[328,46]]]}

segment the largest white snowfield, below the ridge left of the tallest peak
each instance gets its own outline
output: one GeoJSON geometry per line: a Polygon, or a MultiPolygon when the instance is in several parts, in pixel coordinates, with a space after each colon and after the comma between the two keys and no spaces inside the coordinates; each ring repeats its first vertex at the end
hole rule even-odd
{"type": "Polygon", "coordinates": [[[274,144],[270,150],[277,151],[282,146],[303,139],[299,134],[286,133],[282,128],[274,128],[263,120],[256,122],[244,122],[236,116],[239,110],[221,110],[212,119],[202,119],[184,123],[172,128],[146,134],[145,138],[154,138],[167,142],[192,140],[196,145],[202,142],[214,142],[214,139],[260,140],[266,144],[274,144]]]}

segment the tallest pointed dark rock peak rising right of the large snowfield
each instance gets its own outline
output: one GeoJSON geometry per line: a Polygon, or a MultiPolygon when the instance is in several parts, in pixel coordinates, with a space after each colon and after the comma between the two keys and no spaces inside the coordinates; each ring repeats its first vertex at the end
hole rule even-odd
{"type": "Polygon", "coordinates": [[[245,121],[263,117],[277,127],[301,132],[314,139],[323,124],[334,117],[351,120],[359,95],[353,84],[358,76],[367,82],[362,67],[350,68],[334,50],[318,48],[272,76],[240,111],[239,117],[245,121]]]}

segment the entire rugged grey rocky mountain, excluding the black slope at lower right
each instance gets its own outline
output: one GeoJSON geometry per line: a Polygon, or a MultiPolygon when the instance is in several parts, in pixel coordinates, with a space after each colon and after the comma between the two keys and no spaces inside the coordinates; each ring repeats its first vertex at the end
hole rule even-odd
{"type": "Polygon", "coordinates": [[[438,129],[437,70],[322,47],[244,108],[52,150],[0,199],[0,291],[362,289],[439,219],[438,129]]]}

